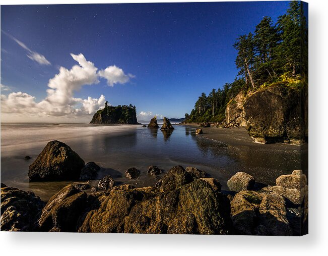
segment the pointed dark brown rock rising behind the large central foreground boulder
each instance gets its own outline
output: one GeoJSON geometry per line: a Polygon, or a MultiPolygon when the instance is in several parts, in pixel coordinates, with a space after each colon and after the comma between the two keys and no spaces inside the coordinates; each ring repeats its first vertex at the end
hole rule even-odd
{"type": "Polygon", "coordinates": [[[177,189],[184,184],[190,183],[195,179],[197,179],[197,177],[194,174],[185,171],[182,166],[174,166],[162,178],[161,190],[163,192],[168,192],[177,189]]]}

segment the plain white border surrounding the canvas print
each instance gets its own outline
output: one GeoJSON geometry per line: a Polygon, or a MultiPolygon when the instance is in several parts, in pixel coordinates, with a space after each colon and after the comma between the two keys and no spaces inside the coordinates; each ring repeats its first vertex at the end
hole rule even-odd
{"type": "MultiPolygon", "coordinates": [[[[160,1],[101,1],[154,3],[160,1]]],[[[162,1],[175,2],[175,1],[162,1]]],[[[179,1],[194,2],[194,1],[179,1]]],[[[198,1],[209,2],[209,1],[198,1]]],[[[212,1],[211,1],[212,2],[212,1]]],[[[303,237],[135,235],[0,232],[2,255],[325,255],[327,238],[327,1],[309,3],[309,232],[303,237]]],[[[67,4],[58,1],[1,1],[9,4],[67,4]]],[[[69,0],[70,4],[91,3],[69,0]]]]}

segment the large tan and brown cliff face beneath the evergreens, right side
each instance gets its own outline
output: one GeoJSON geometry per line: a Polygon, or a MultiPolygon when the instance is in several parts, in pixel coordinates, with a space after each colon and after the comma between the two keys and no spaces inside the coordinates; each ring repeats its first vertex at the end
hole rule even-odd
{"type": "Polygon", "coordinates": [[[246,126],[249,136],[257,143],[300,144],[307,137],[297,88],[271,85],[249,96],[238,94],[233,101],[226,109],[227,124],[246,126]]]}

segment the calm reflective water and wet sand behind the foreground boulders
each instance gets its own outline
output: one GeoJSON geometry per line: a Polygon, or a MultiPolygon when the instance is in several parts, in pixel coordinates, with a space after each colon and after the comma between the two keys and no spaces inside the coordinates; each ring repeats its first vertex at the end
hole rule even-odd
{"type": "Polygon", "coordinates": [[[157,165],[164,173],[175,165],[195,166],[219,179],[223,189],[227,189],[227,180],[238,171],[250,173],[259,182],[274,184],[279,175],[298,169],[299,150],[295,146],[230,146],[196,136],[194,131],[190,126],[175,126],[173,132],[165,132],[141,125],[2,124],[1,182],[34,191],[44,200],[74,183],[28,180],[29,165],[54,139],[67,143],[86,163],[96,162],[103,168],[98,178],[110,174],[116,184],[154,185],[156,179],[147,175],[150,165],[157,165]],[[27,155],[32,159],[25,161],[27,155]],[[129,167],[141,171],[139,179],[124,177],[129,167]]]}

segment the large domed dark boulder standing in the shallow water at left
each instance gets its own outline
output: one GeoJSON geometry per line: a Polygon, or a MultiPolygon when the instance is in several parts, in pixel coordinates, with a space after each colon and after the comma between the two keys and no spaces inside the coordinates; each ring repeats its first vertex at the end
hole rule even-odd
{"type": "Polygon", "coordinates": [[[67,144],[52,140],[30,165],[30,181],[78,180],[84,161],[67,144]]]}

